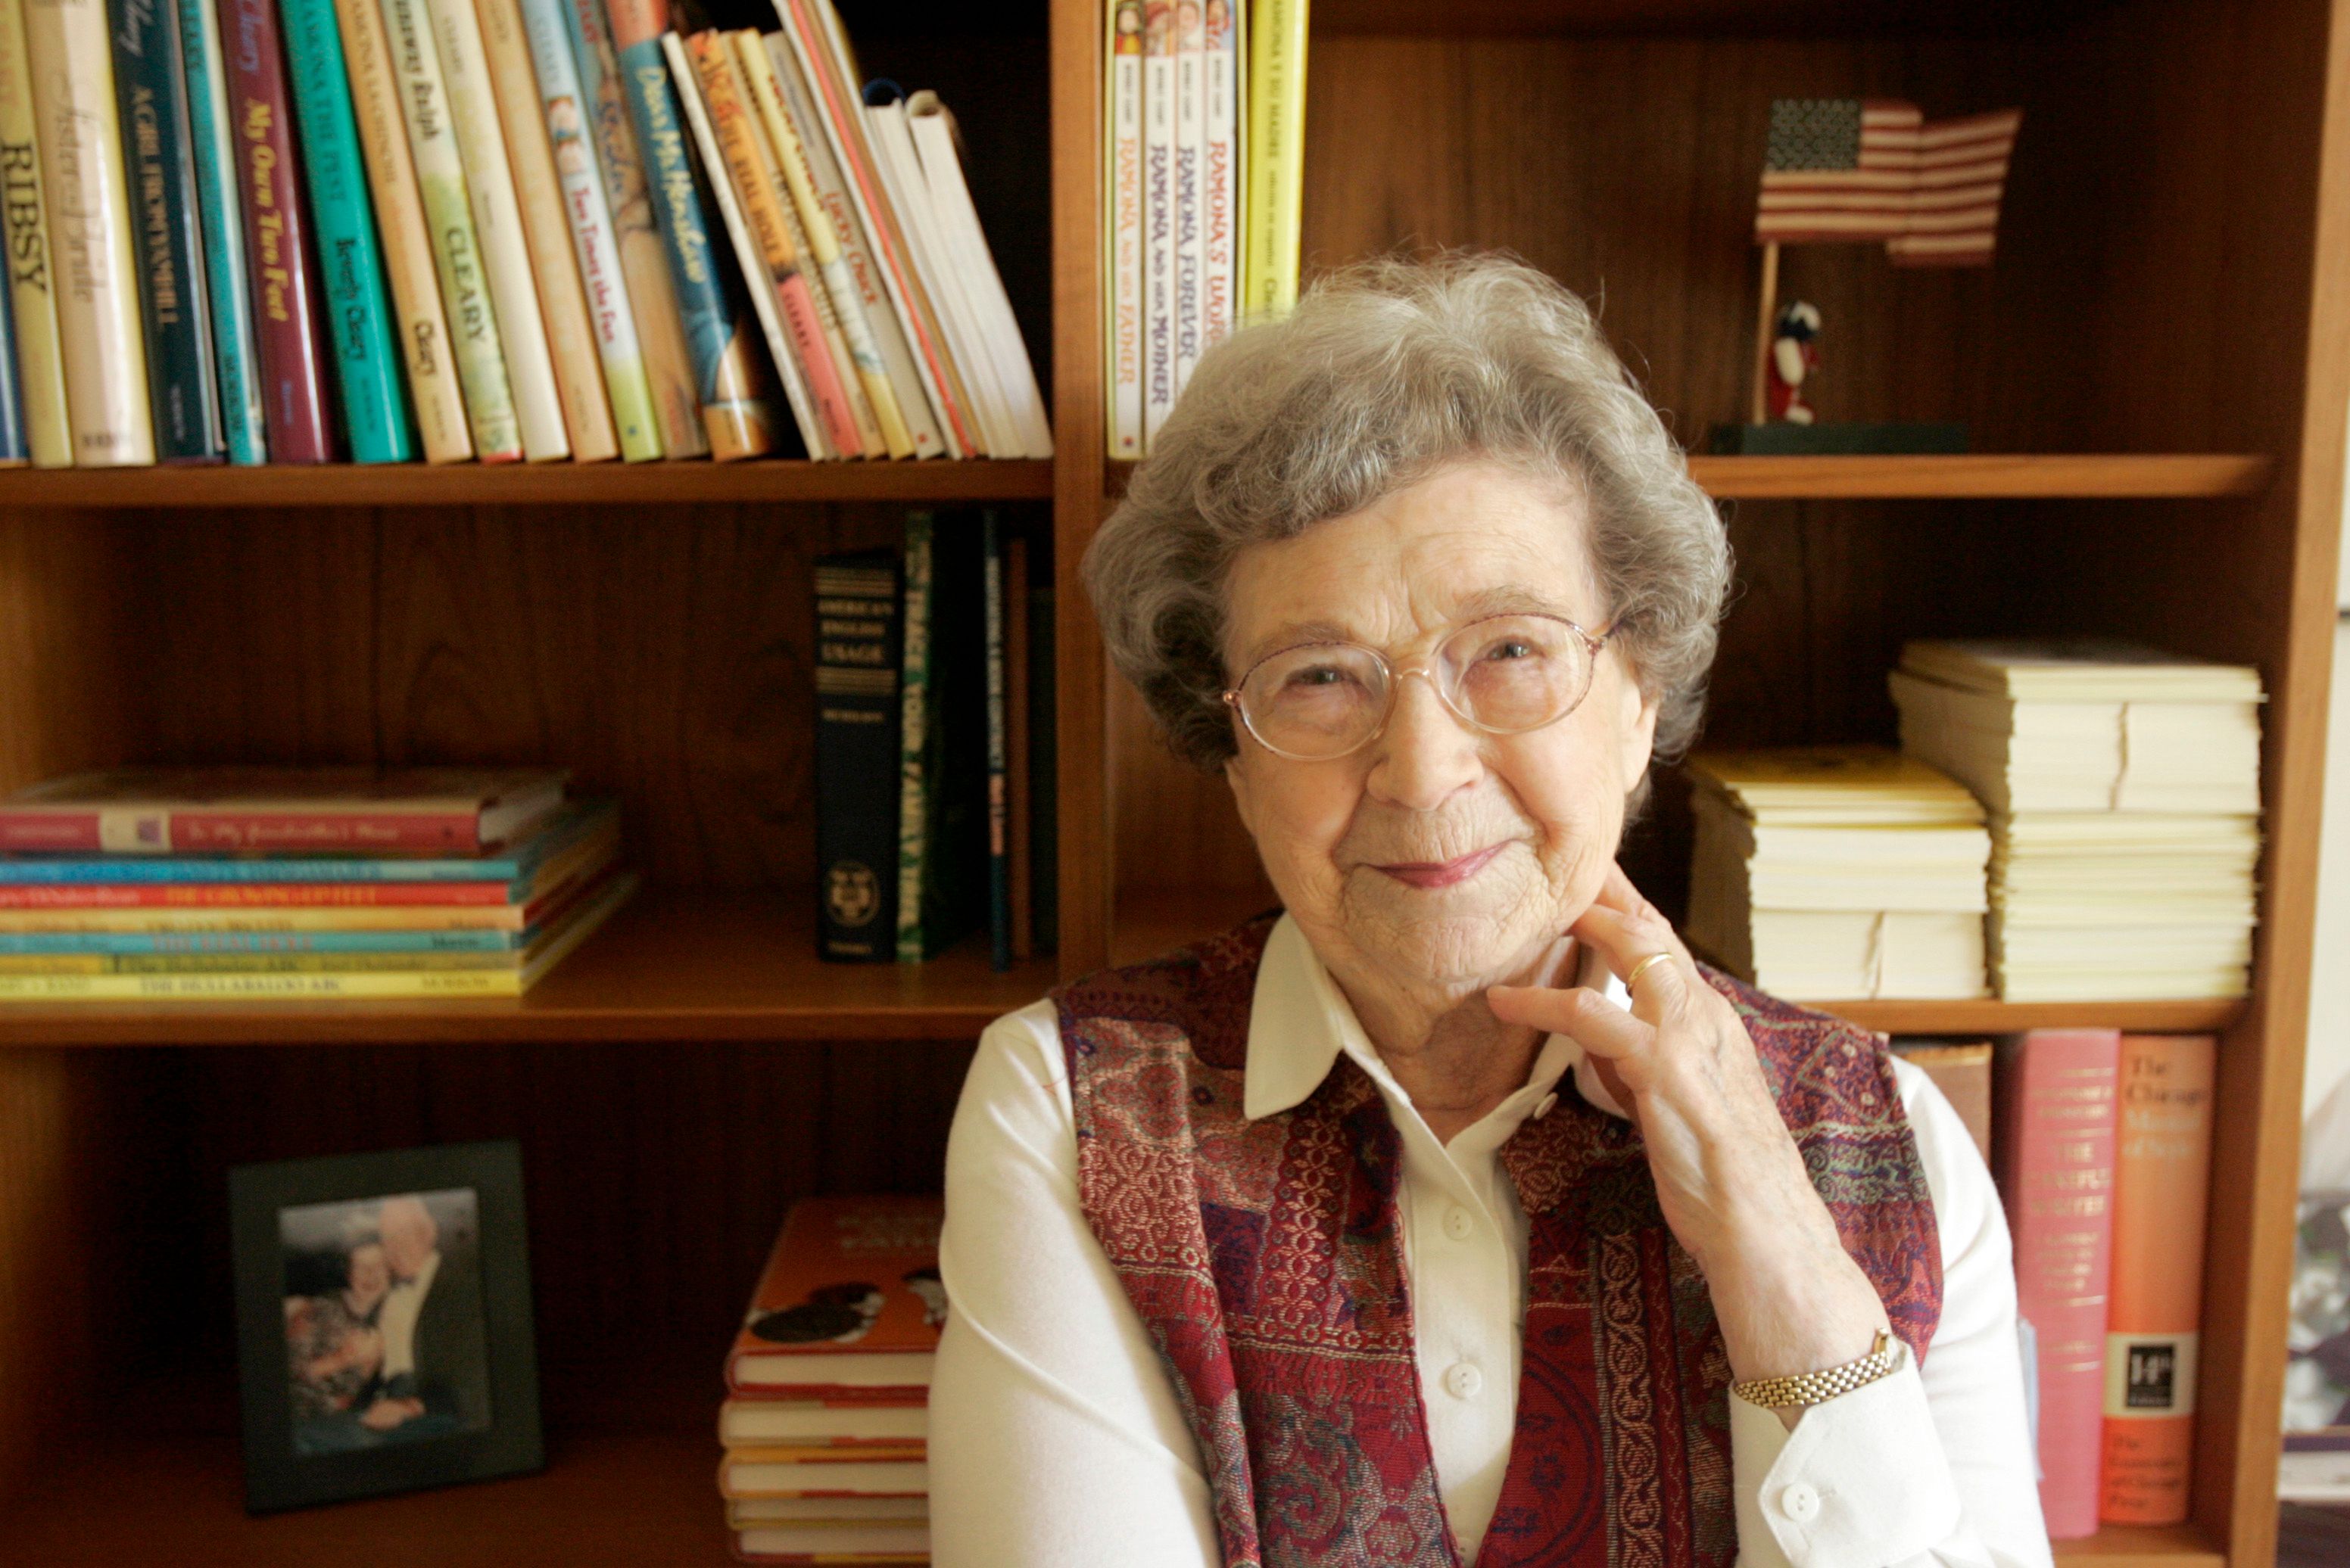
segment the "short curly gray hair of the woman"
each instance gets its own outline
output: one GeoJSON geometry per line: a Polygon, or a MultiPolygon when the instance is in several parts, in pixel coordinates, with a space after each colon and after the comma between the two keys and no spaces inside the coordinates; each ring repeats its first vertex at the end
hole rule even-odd
{"type": "Polygon", "coordinates": [[[1657,702],[1657,758],[1704,714],[1730,540],[1591,310],[1506,256],[1372,261],[1201,357],[1126,500],[1086,552],[1119,671],[1184,761],[1234,756],[1224,580],[1288,540],[1462,460],[1586,505],[1617,643],[1657,702]]]}

